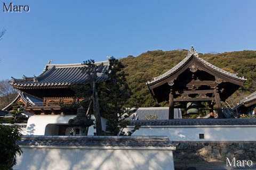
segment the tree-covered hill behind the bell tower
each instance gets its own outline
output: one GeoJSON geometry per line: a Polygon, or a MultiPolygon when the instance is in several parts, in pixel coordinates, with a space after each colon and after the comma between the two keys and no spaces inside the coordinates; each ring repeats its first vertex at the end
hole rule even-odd
{"type": "MultiPolygon", "coordinates": [[[[137,57],[127,56],[120,61],[124,64],[124,71],[129,74],[127,82],[132,89],[131,102],[139,107],[166,106],[165,103],[157,105],[151,97],[146,85],[147,81],[158,77],[177,65],[188,54],[188,50],[172,51],[148,51],[137,57]]],[[[239,77],[247,78],[242,90],[255,91],[256,82],[256,51],[244,50],[241,52],[226,52],[219,54],[199,54],[205,61],[232,73],[238,73],[239,77]],[[254,82],[254,83],[253,83],[254,82]]]]}

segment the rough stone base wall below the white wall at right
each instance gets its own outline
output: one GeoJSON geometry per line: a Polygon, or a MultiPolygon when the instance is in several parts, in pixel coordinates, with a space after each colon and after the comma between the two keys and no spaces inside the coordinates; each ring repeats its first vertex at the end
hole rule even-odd
{"type": "Polygon", "coordinates": [[[174,159],[193,161],[252,160],[256,162],[255,142],[179,142],[174,159]]]}

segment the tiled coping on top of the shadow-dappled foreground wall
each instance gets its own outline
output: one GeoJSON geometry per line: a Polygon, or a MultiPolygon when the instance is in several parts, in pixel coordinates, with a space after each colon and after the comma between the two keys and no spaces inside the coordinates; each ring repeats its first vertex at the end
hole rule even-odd
{"type": "Polygon", "coordinates": [[[111,146],[111,147],[175,147],[163,136],[22,136],[18,145],[27,146],[111,146]]]}

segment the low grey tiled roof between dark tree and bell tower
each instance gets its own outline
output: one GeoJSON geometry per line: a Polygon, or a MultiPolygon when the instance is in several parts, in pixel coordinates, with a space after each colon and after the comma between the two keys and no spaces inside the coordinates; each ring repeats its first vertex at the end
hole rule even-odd
{"type": "MultiPolygon", "coordinates": [[[[156,120],[169,119],[169,107],[140,107],[127,120],[147,120],[147,115],[156,115],[156,120]]],[[[174,108],[174,119],[182,118],[181,111],[174,108]]]]}

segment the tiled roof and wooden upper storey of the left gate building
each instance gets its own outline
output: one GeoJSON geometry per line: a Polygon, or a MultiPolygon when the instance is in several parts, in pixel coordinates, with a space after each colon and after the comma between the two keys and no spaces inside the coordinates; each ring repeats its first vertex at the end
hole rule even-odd
{"type": "MultiPolygon", "coordinates": [[[[106,81],[108,78],[103,75],[109,66],[109,62],[94,63],[99,66],[96,82],[106,81]]],[[[87,84],[88,75],[85,74],[81,67],[82,64],[47,64],[41,75],[38,77],[26,77],[22,79],[12,79],[11,85],[23,93],[20,96],[24,98],[25,94],[28,101],[25,100],[25,111],[35,115],[60,115],[76,114],[77,108],[70,109],[63,107],[67,104],[78,103],[79,99],[74,98],[74,85],[87,84]],[[33,98],[30,101],[29,98],[33,98]],[[61,105],[60,105],[61,104],[61,105]]],[[[9,106],[10,107],[10,106],[9,106]]]]}

